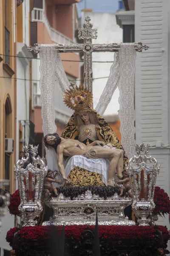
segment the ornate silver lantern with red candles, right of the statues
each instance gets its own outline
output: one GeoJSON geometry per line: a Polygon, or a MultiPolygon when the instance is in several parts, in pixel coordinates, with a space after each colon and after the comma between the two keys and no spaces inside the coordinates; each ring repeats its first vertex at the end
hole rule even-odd
{"type": "Polygon", "coordinates": [[[160,165],[158,166],[155,158],[148,155],[148,151],[149,144],[145,145],[142,142],[140,145],[136,145],[138,156],[132,157],[127,167],[133,194],[132,208],[138,218],[139,226],[148,226],[150,223],[148,216],[155,208],[153,198],[156,177],[160,170],[160,165]]]}

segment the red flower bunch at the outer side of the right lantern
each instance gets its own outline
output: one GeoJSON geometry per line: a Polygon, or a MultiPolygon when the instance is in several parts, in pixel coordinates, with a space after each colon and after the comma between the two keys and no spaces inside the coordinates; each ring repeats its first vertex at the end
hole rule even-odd
{"type": "Polygon", "coordinates": [[[159,186],[155,187],[154,203],[153,214],[164,215],[170,212],[170,198],[159,186]]]}

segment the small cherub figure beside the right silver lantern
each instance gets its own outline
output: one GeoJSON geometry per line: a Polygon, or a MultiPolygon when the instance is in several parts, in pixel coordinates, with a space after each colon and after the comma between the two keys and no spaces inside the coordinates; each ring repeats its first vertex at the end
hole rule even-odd
{"type": "Polygon", "coordinates": [[[122,176],[115,174],[119,179],[116,181],[117,184],[123,184],[123,186],[120,187],[120,196],[123,195],[124,189],[128,193],[128,195],[132,198],[132,189],[130,186],[130,178],[126,171],[122,171],[122,176]]]}

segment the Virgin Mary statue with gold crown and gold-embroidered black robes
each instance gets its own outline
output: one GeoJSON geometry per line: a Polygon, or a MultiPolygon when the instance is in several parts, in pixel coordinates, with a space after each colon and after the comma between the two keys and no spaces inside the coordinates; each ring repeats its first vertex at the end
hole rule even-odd
{"type": "MultiPolygon", "coordinates": [[[[64,102],[74,110],[74,114],[62,132],[63,138],[79,140],[85,145],[100,140],[106,143],[106,147],[123,149],[110,125],[92,108],[93,97],[87,88],[74,87],[71,84],[70,89],[64,95],[64,102]]],[[[128,158],[124,153],[124,169],[127,162],[128,158]]],[[[101,175],[80,167],[71,170],[68,178],[72,181],[73,186],[104,186],[101,175]]]]}

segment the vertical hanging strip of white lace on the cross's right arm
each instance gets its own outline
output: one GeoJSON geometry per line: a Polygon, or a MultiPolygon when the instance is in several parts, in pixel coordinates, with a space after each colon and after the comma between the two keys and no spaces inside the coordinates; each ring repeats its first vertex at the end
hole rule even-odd
{"type": "Polygon", "coordinates": [[[134,76],[136,51],[134,44],[121,44],[119,50],[119,119],[122,146],[130,159],[135,151],[135,110],[134,110],[134,76]]]}

